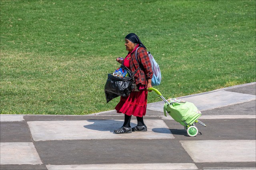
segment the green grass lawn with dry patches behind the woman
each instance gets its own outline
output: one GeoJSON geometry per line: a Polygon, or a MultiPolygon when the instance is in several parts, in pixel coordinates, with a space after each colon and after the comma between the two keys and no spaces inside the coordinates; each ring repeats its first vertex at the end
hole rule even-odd
{"type": "Polygon", "coordinates": [[[1,0],[0,113],[114,109],[104,85],[131,32],[160,65],[165,98],[256,81],[255,0],[1,0]]]}

